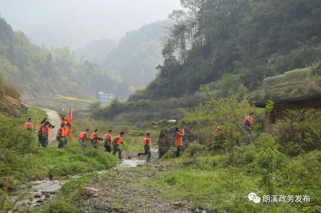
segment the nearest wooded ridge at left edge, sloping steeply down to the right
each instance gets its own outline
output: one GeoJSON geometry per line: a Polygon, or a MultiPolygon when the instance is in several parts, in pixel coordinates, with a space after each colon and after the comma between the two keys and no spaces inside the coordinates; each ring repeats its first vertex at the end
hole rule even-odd
{"type": "Polygon", "coordinates": [[[28,40],[22,32],[13,32],[11,26],[0,18],[0,75],[18,89],[24,97],[61,94],[90,98],[76,83],[64,77],[46,49],[28,40]]]}

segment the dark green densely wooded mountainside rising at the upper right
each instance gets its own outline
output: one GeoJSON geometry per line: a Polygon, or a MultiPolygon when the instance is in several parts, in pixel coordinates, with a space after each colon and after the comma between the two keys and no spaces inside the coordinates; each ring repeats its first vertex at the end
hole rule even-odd
{"type": "Polygon", "coordinates": [[[181,97],[210,82],[222,95],[241,84],[251,91],[266,77],[321,60],[320,1],[181,2],[184,10],[169,15],[164,64],[142,99],[181,97]]]}

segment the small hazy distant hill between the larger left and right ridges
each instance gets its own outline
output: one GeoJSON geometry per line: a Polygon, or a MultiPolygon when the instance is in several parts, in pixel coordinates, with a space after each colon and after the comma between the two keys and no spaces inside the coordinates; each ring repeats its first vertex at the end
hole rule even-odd
{"type": "Polygon", "coordinates": [[[97,64],[101,62],[106,54],[114,47],[116,47],[116,44],[113,40],[101,38],[91,42],[86,47],[77,49],[75,53],[78,58],[81,58],[83,55],[86,60],[97,64]]]}

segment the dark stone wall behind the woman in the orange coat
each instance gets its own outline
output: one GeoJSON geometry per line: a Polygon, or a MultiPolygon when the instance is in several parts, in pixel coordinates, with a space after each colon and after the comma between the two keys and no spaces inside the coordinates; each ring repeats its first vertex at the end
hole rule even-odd
{"type": "MultiPolygon", "coordinates": [[[[183,149],[184,150],[190,142],[198,140],[200,143],[203,143],[203,139],[200,136],[197,136],[190,132],[189,129],[184,128],[185,136],[182,137],[183,140],[183,149]]],[[[170,129],[162,129],[160,131],[160,137],[158,140],[158,158],[161,158],[170,147],[175,147],[175,127],[170,129]]]]}

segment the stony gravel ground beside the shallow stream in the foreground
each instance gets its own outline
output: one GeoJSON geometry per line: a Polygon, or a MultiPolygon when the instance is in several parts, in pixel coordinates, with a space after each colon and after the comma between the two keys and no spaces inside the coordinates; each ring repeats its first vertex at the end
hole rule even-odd
{"type": "MultiPolygon", "coordinates": [[[[133,156],[136,156],[135,154],[133,156]]],[[[143,160],[145,157],[134,159],[143,160]]],[[[159,175],[162,176],[164,172],[175,169],[175,166],[161,165],[158,160],[158,149],[152,149],[151,159],[150,162],[137,165],[137,167],[115,167],[95,178],[85,188],[87,192],[83,198],[86,201],[81,206],[84,208],[83,212],[213,212],[192,209],[187,205],[188,201],[164,200],[162,192],[152,188],[147,181],[156,181],[159,175]]]]}

